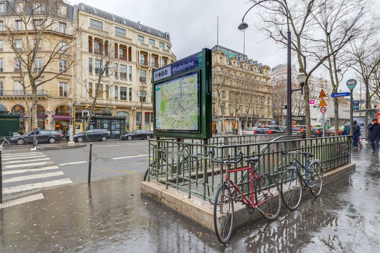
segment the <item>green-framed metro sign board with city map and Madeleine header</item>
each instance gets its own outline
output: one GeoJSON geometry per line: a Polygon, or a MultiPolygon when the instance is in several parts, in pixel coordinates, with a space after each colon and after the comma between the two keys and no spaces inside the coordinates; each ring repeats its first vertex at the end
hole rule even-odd
{"type": "Polygon", "coordinates": [[[155,136],[212,137],[211,75],[207,48],[152,71],[155,136]]]}

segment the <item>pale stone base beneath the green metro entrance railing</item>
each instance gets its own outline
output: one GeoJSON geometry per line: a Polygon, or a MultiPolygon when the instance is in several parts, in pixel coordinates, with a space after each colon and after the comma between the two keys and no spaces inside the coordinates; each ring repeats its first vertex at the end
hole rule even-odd
{"type": "MultiPolygon", "coordinates": [[[[355,170],[355,163],[343,165],[334,170],[325,172],[323,174],[323,181],[329,182],[333,179],[342,176],[343,174],[355,170]]],[[[188,198],[188,194],[181,192],[174,188],[169,187],[166,189],[164,184],[160,184],[155,181],[143,181],[141,182],[141,192],[160,201],[163,204],[173,208],[177,212],[184,214],[191,218],[195,222],[205,226],[206,228],[215,231],[214,229],[214,205],[209,201],[204,201],[201,198],[193,196],[188,198]]],[[[309,190],[305,191],[307,194],[309,190]]],[[[322,193],[323,194],[323,189],[322,193]]],[[[282,206],[282,208],[286,208],[282,206]]],[[[250,220],[261,216],[259,212],[248,214],[245,210],[245,206],[241,203],[234,203],[234,227],[241,226],[250,220]]]]}

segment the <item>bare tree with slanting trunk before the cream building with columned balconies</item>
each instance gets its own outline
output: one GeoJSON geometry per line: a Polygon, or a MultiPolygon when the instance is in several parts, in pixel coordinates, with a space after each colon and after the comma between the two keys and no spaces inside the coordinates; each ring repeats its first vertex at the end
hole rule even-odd
{"type": "MultiPolygon", "coordinates": [[[[79,28],[79,32],[81,29],[79,28]]],[[[90,101],[92,100],[91,107],[89,108],[89,117],[87,118],[84,130],[87,130],[90,124],[92,114],[95,112],[95,107],[98,105],[98,100],[105,97],[106,102],[111,105],[110,91],[120,83],[120,80],[127,80],[127,69],[118,70],[117,52],[113,42],[108,40],[110,31],[103,30],[105,35],[97,35],[94,43],[89,45],[89,51],[93,52],[93,58],[89,62],[89,73],[87,71],[78,73],[78,83],[86,90],[90,101]],[[89,77],[95,75],[94,86],[90,83],[89,77]],[[93,88],[95,90],[93,90],[93,88]],[[105,96],[104,96],[105,95],[105,96]]],[[[85,42],[87,43],[87,41],[85,42]]],[[[86,69],[86,68],[84,68],[86,69]]],[[[126,99],[126,97],[125,97],[126,99]]]]}

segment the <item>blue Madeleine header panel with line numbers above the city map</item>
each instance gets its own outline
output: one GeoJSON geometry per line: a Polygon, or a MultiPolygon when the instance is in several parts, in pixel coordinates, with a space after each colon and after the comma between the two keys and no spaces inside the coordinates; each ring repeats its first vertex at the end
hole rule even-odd
{"type": "Polygon", "coordinates": [[[195,53],[189,57],[175,61],[168,66],[156,69],[154,71],[154,81],[177,75],[200,66],[202,66],[202,52],[195,53]]]}

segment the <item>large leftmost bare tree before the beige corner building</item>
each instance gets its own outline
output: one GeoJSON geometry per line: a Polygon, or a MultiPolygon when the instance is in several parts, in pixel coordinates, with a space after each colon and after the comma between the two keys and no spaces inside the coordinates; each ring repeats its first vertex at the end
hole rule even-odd
{"type": "MultiPolygon", "coordinates": [[[[70,24],[60,25],[67,17],[67,6],[62,0],[6,1],[7,19],[4,21],[6,36],[16,57],[15,72],[20,73],[25,102],[29,106],[27,88],[32,90],[32,112],[28,117],[32,128],[37,127],[37,89],[74,66],[74,35],[70,24]],[[10,18],[15,17],[15,18],[10,18]],[[49,41],[46,47],[43,42],[49,41]],[[51,66],[59,63],[59,70],[50,74],[51,66]],[[49,72],[49,75],[47,74],[49,72]]],[[[53,68],[54,69],[54,68],[53,68]]],[[[66,90],[62,90],[67,93],[66,90]]]]}

